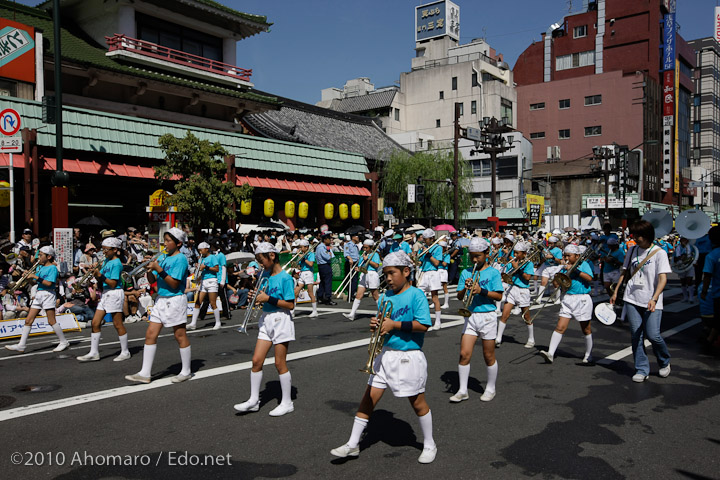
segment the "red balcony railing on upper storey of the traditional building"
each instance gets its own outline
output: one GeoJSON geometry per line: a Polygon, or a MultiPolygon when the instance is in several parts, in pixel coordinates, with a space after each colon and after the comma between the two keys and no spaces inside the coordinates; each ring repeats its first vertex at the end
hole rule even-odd
{"type": "Polygon", "coordinates": [[[235,65],[211,60],[209,58],[193,55],[192,53],[175,50],[173,48],[164,47],[156,43],[138,40],[126,35],[116,33],[112,37],[105,37],[109,52],[126,51],[143,55],[146,57],[164,60],[179,66],[189,67],[193,69],[203,70],[215,75],[222,75],[237,81],[249,82],[252,70],[239,68],[235,65]]]}

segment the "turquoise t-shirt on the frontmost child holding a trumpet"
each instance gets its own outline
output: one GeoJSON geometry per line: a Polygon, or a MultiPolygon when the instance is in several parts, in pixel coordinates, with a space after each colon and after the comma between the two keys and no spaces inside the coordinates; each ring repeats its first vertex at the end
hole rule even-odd
{"type": "MultiPolygon", "coordinates": [[[[395,322],[412,322],[417,320],[428,327],[432,326],[430,320],[430,307],[422,290],[410,287],[403,293],[396,295],[392,290],[386,291],[378,300],[378,307],[388,300],[393,307],[391,318],[395,322]]],[[[401,332],[392,330],[385,336],[385,346],[393,350],[420,350],[425,340],[425,332],[401,332]]]]}

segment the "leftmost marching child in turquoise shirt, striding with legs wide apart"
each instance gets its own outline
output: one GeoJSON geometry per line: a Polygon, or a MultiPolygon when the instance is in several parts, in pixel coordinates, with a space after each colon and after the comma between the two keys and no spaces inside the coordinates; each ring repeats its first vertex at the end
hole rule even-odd
{"type": "Polygon", "coordinates": [[[37,294],[32,299],[30,304],[30,311],[25,319],[25,325],[23,326],[22,334],[20,336],[20,342],[15,345],[5,345],[5,348],[12,350],[13,352],[24,353],[25,346],[27,345],[27,339],[32,329],[32,324],[35,321],[35,317],[40,313],[41,310],[45,310],[48,323],[52,326],[57,335],[60,343],[53,349],[53,352],[62,352],[70,346],[70,343],[65,339],[65,334],[62,331],[62,327],[55,321],[55,302],[57,298],[57,279],[58,269],[53,264],[55,260],[55,250],[51,246],[45,246],[40,248],[38,252],[38,269],[35,273],[30,273],[29,278],[37,281],[37,294]]]}

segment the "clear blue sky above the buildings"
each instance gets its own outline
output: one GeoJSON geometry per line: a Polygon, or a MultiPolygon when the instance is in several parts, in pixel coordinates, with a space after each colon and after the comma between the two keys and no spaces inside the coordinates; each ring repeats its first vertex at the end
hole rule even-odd
{"type": "MultiPolygon", "coordinates": [[[[410,70],[414,56],[411,0],[219,0],[236,10],[265,15],[274,25],[238,43],[237,65],[252,68],[259,90],[316,103],[320,91],[346,80],[370,77],[392,85],[410,70]]],[[[634,1],[634,0],[631,0],[634,1]]],[[[657,1],[657,0],[654,0],[657,1]]],[[[35,5],[39,0],[20,1],[35,5]]],[[[582,0],[455,0],[461,43],[485,37],[511,66],[540,33],[582,0]]],[[[686,40],[713,32],[717,0],[677,0],[677,21],[686,40]]]]}

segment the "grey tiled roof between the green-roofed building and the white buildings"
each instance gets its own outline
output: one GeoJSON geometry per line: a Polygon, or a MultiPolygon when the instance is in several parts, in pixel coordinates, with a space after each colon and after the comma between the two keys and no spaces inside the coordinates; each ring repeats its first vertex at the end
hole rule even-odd
{"type": "Polygon", "coordinates": [[[359,153],[373,161],[386,160],[393,151],[403,149],[370,118],[280,100],[280,110],[246,115],[245,127],[268,138],[359,153]]]}

